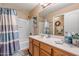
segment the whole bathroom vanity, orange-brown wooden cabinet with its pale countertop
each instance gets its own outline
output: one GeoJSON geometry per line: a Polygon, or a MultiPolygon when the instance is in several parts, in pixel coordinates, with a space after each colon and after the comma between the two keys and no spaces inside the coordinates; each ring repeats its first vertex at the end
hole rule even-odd
{"type": "Polygon", "coordinates": [[[32,56],[78,56],[79,48],[66,43],[57,44],[64,38],[43,38],[41,36],[29,37],[29,53],[32,56]]]}

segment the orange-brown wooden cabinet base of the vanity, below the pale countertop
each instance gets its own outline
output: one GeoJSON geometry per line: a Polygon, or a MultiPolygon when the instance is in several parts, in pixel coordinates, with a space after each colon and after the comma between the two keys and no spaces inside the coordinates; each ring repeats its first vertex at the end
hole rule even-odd
{"type": "Polygon", "coordinates": [[[29,39],[29,52],[32,56],[75,56],[72,53],[32,38],[29,39]]]}

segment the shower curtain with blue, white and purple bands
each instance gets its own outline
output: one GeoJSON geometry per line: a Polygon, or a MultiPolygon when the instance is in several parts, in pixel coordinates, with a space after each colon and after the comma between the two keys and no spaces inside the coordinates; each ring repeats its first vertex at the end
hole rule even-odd
{"type": "Polygon", "coordinates": [[[9,56],[20,49],[16,26],[16,10],[0,8],[0,56],[9,56]]]}

